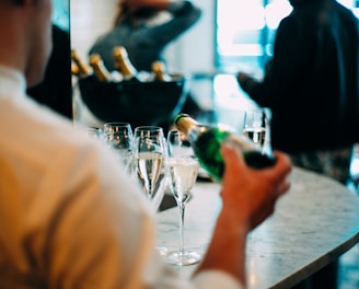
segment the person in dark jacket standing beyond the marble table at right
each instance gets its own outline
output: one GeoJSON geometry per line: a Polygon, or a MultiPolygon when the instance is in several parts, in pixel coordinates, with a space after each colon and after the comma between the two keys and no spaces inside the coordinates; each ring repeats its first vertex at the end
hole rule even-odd
{"type": "MultiPolygon", "coordinates": [[[[359,141],[359,24],[335,0],[289,0],[262,81],[240,71],[242,89],[269,107],[271,144],[292,163],[346,184],[359,141]]],[[[315,192],[313,192],[315,193],[315,192]]],[[[298,288],[336,288],[337,262],[298,288]]]]}

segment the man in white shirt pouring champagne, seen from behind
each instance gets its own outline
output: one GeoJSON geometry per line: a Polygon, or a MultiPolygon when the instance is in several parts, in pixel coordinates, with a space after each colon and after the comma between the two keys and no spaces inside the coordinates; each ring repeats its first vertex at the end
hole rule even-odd
{"type": "Polygon", "coordinates": [[[180,278],[113,152],[25,95],[50,54],[50,15],[51,0],[0,0],[0,288],[245,287],[246,235],[288,190],[288,158],[253,170],[223,146],[222,210],[193,278],[180,278]]]}

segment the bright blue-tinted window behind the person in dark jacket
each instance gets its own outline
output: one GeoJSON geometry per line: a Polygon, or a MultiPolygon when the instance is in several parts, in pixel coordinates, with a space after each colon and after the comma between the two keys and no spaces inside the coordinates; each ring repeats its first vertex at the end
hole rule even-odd
{"type": "MultiPolygon", "coordinates": [[[[338,2],[359,16],[359,0],[338,2]]],[[[278,24],[291,10],[288,0],[217,0],[216,67],[262,72],[278,24]]]]}

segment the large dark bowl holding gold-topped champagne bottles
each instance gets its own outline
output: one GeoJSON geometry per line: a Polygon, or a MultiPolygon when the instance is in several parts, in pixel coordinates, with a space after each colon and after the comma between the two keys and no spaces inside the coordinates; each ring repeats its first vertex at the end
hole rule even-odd
{"type": "Polygon", "coordinates": [[[83,102],[103,122],[126,122],[132,127],[160,125],[178,114],[187,97],[187,79],[172,76],[170,82],[100,82],[80,79],[83,102]]]}

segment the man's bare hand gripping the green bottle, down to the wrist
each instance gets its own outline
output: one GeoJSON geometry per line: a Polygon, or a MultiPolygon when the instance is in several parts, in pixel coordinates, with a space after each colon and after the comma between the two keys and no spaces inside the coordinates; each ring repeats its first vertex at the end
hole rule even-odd
{"type": "Polygon", "coordinates": [[[225,163],[221,192],[223,210],[231,211],[233,218],[243,219],[248,231],[253,230],[274,212],[276,200],[288,190],[289,158],[276,151],[274,166],[255,170],[245,164],[232,144],[222,144],[221,152],[225,163]]]}

